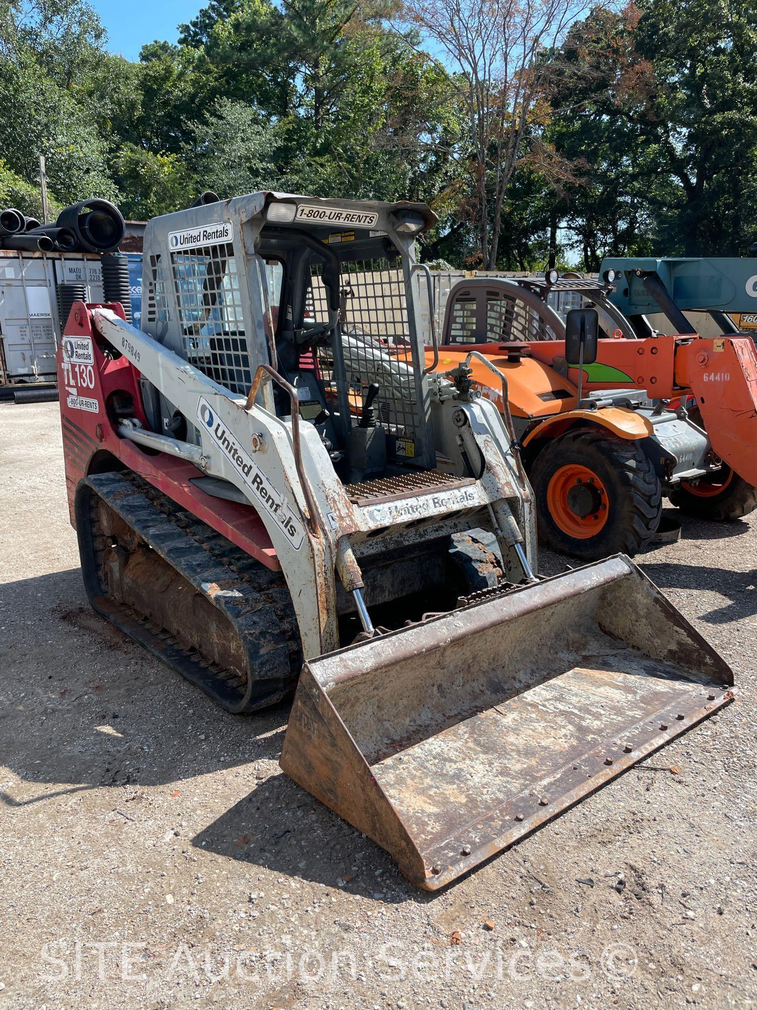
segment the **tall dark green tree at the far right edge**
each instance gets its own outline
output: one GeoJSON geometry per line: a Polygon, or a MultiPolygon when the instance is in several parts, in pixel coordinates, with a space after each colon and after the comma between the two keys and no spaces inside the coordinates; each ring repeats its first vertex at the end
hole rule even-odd
{"type": "Polygon", "coordinates": [[[753,210],[729,177],[749,174],[757,154],[757,6],[640,0],[638,10],[638,83],[623,109],[680,188],[669,239],[686,256],[738,255],[753,210]]]}

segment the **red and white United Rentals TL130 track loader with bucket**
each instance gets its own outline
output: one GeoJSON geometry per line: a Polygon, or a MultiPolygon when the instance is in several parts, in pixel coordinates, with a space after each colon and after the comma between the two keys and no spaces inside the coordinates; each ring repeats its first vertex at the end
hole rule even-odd
{"type": "Polygon", "coordinates": [[[156,218],[145,331],[77,303],[58,360],[92,605],[230,712],[294,692],[282,768],[430,890],[733,684],[627,558],[536,577],[507,417],[425,364],[434,220],[275,193],[156,218]]]}

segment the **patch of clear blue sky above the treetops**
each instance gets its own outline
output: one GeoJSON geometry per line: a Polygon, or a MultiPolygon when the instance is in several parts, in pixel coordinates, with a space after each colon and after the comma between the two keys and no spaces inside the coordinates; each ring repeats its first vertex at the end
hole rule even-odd
{"type": "MultiPolygon", "coordinates": [[[[175,42],[177,25],[191,21],[206,3],[187,0],[91,0],[108,30],[108,48],[128,60],[136,60],[139,49],[153,38],[175,42]]],[[[207,0],[206,0],[207,2],[207,0]]]]}

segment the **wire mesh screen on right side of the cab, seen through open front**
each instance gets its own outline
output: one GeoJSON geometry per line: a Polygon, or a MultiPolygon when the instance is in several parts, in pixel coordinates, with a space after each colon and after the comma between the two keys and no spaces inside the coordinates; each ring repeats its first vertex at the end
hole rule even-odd
{"type": "MultiPolygon", "coordinates": [[[[312,270],[306,307],[316,322],[328,320],[318,266],[312,270]]],[[[350,410],[359,413],[368,386],[376,383],[379,422],[395,436],[394,454],[412,459],[419,431],[415,369],[422,366],[415,362],[410,343],[402,265],[388,260],[342,264],[340,319],[350,410]]],[[[334,381],[331,347],[319,347],[318,360],[328,386],[334,381]]]]}

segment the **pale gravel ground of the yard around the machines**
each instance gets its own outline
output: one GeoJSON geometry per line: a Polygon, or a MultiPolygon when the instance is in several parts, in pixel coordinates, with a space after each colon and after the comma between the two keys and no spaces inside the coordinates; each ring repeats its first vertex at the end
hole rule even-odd
{"type": "Polygon", "coordinates": [[[90,611],[58,406],[0,405],[0,1004],[753,1006],[755,526],[643,559],[737,701],[430,896],[280,772],[286,706],[227,715],[90,611]]]}

